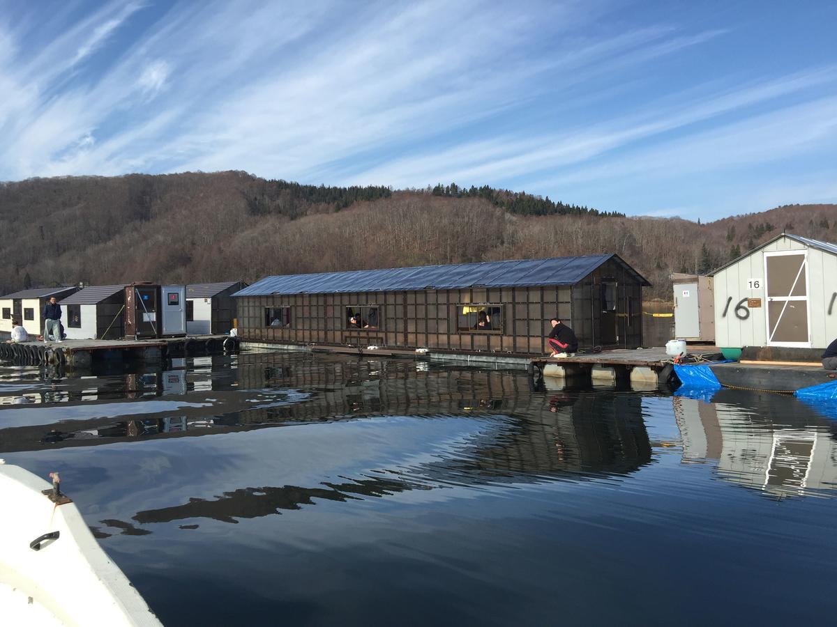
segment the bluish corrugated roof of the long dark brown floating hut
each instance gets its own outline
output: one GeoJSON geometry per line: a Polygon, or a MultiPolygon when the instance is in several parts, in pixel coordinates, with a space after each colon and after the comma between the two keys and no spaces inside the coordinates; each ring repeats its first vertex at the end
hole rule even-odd
{"type": "Polygon", "coordinates": [[[450,266],[356,270],[341,273],[286,274],[266,277],[234,296],[270,294],[399,292],[419,289],[506,288],[573,285],[615,259],[640,283],[650,285],[619,255],[585,255],[516,261],[459,263],[450,266]]]}

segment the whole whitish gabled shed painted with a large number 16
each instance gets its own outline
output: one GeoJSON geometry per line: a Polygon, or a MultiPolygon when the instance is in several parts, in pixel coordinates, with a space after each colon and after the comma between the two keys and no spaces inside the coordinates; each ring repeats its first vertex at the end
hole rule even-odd
{"type": "Polygon", "coordinates": [[[837,337],[837,244],[782,233],[714,273],[721,348],[815,349],[837,337]]]}

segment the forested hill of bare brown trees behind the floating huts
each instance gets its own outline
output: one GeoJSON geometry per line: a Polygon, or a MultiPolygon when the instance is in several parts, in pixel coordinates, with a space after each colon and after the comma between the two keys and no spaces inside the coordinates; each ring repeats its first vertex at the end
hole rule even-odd
{"type": "Polygon", "coordinates": [[[696,224],[490,187],[306,186],[230,171],[4,183],[0,227],[0,293],[617,252],[667,298],[671,272],[709,271],[783,229],[837,241],[837,205],[696,224]]]}

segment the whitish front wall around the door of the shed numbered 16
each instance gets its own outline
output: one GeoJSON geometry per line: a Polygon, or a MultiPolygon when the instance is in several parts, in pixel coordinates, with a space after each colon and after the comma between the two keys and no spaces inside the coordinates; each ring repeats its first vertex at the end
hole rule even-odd
{"type": "Polygon", "coordinates": [[[837,303],[829,315],[828,308],[837,293],[837,255],[809,248],[788,237],[743,257],[732,266],[715,273],[715,344],[721,348],[767,346],[767,298],[764,291],[764,253],[787,250],[808,250],[808,303],[811,315],[811,347],[824,349],[837,337],[837,303]],[[748,288],[750,279],[758,279],[759,288],[748,288]],[[760,308],[747,308],[743,303],[738,314],[736,305],[742,298],[761,298],[760,308]],[[729,306],[727,307],[727,303],[729,306]],[[726,315],[725,315],[726,309],[726,315]],[[749,315],[745,314],[748,312],[749,315]],[[744,318],[744,319],[742,319],[744,318]]]}

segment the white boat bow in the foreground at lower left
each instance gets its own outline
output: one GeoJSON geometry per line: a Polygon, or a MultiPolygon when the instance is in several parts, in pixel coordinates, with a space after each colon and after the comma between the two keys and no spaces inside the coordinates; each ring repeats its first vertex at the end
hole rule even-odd
{"type": "Polygon", "coordinates": [[[75,504],[54,504],[50,488],[0,460],[0,623],[160,627],[75,504]]]}

